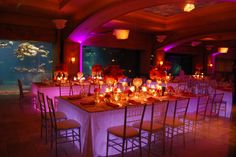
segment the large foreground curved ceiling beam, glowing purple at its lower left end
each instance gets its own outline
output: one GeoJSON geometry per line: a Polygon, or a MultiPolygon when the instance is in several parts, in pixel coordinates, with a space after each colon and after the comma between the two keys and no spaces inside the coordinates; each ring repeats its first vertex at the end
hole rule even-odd
{"type": "MultiPolygon", "coordinates": [[[[220,1],[220,0],[218,0],[220,1]]],[[[185,0],[179,0],[178,3],[184,3],[185,0]]],[[[100,12],[97,12],[93,16],[89,17],[86,21],[81,23],[75,30],[69,35],[69,39],[74,42],[83,42],[86,40],[90,33],[93,32],[99,26],[115,19],[121,15],[143,9],[146,7],[152,7],[155,5],[162,5],[168,3],[177,3],[176,0],[130,0],[122,1],[115,6],[105,8],[100,12]]]]}

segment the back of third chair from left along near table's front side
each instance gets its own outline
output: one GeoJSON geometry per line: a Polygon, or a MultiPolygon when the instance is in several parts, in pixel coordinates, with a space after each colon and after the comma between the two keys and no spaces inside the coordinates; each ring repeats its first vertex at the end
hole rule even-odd
{"type": "Polygon", "coordinates": [[[173,117],[173,124],[175,125],[176,120],[182,120],[185,122],[187,110],[189,105],[189,98],[177,99],[175,101],[174,107],[174,117],[173,117]]]}

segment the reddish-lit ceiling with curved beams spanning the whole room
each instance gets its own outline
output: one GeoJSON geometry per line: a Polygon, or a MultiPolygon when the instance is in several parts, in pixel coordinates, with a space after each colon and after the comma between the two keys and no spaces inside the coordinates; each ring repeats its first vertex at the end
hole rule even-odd
{"type": "Polygon", "coordinates": [[[77,41],[127,28],[166,35],[169,44],[229,44],[236,47],[234,0],[1,0],[0,24],[55,29],[54,19],[66,19],[64,37],[77,41]],[[196,8],[183,11],[187,1],[196,8]],[[83,32],[83,34],[82,34],[83,32]],[[86,36],[86,37],[85,37],[86,36]]]}

